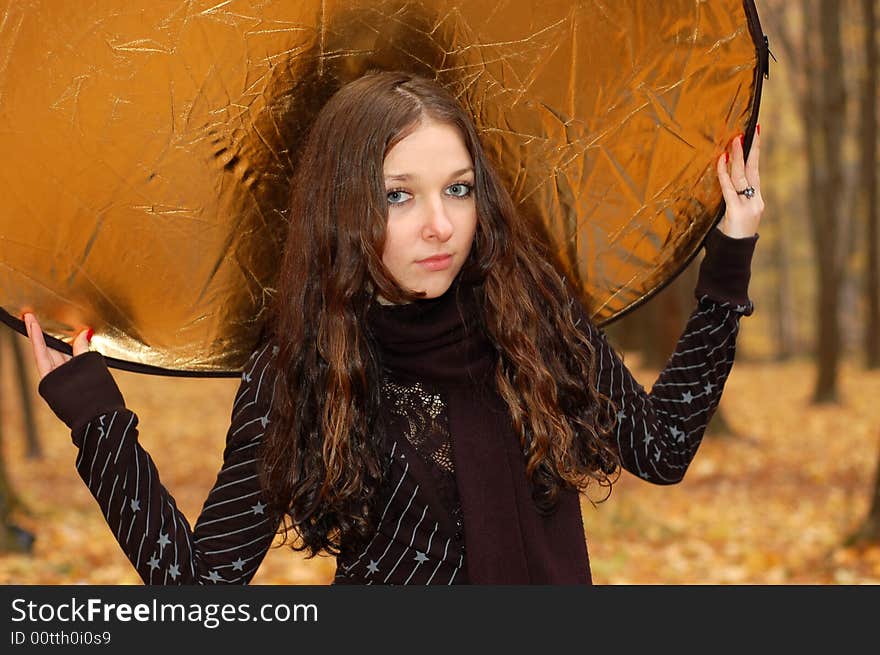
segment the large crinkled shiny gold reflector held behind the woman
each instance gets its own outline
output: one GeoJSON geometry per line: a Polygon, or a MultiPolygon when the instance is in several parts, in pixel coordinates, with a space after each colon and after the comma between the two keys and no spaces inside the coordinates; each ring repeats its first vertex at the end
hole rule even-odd
{"type": "Polygon", "coordinates": [[[92,326],[122,368],[235,373],[296,230],[304,131],[343,83],[400,68],[472,110],[607,323],[718,218],[715,158],[757,111],[756,26],[739,0],[0,0],[4,320],[92,326]]]}

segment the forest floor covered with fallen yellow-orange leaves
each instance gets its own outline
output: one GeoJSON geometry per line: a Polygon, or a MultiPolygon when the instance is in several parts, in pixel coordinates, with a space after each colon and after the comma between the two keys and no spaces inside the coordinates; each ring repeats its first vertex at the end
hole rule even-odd
{"type": "MultiPolygon", "coordinates": [[[[627,364],[648,388],[654,379],[627,364]]],[[[24,457],[19,400],[4,358],[2,420],[8,474],[36,540],[0,554],[3,584],[139,584],[74,469],[64,426],[36,398],[45,455],[24,457]]],[[[28,362],[30,364],[30,362],[28,362]]],[[[115,371],[178,506],[194,522],[220,466],[229,379],[173,379],[115,371]]],[[[583,503],[593,578],[601,584],[880,583],[880,545],[844,548],[868,509],[880,450],[880,372],[844,364],[843,402],[809,404],[810,362],[737,361],[721,411],[730,437],[709,436],[685,480],[649,485],[624,474],[611,497],[583,503]]],[[[34,388],[36,385],[32,385],[34,388]]],[[[325,584],[329,557],[273,548],[256,584],[325,584]]]]}

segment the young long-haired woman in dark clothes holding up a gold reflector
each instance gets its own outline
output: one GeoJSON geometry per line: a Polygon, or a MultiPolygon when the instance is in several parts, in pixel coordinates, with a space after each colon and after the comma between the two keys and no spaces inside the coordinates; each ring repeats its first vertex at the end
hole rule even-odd
{"type": "Polygon", "coordinates": [[[247,583],[279,526],[295,549],[336,555],[337,583],[589,583],[579,492],[621,467],[681,480],[717,407],[752,312],[758,151],[756,135],[746,163],[738,138],[718,160],[727,211],[646,393],[454,98],[364,76],[302,152],[268,334],[193,530],[88,335],[70,358],[27,315],[40,393],[145,583],[247,583]]]}

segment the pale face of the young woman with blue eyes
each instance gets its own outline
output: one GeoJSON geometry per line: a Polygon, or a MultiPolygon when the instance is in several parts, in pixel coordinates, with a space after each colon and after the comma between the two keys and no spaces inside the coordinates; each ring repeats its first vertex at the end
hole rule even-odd
{"type": "Polygon", "coordinates": [[[443,295],[477,228],[474,163],[458,128],[424,120],[385,157],[388,225],[382,262],[426,298],[443,295]]]}

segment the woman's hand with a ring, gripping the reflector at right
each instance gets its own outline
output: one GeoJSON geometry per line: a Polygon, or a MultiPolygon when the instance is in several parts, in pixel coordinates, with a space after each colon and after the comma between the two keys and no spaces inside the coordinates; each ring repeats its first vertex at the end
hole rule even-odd
{"type": "Polygon", "coordinates": [[[761,198],[761,177],[758,158],[761,151],[761,127],[755,130],[749,159],[744,161],[743,137],[740,134],[731,143],[730,153],[723,153],[717,162],[718,182],[727,206],[718,229],[734,239],[757,234],[764,200],[761,198]],[[728,170],[729,166],[729,170],[728,170]],[[749,192],[748,189],[753,189],[749,192]],[[751,197],[749,197],[751,193],[751,197]]]}

